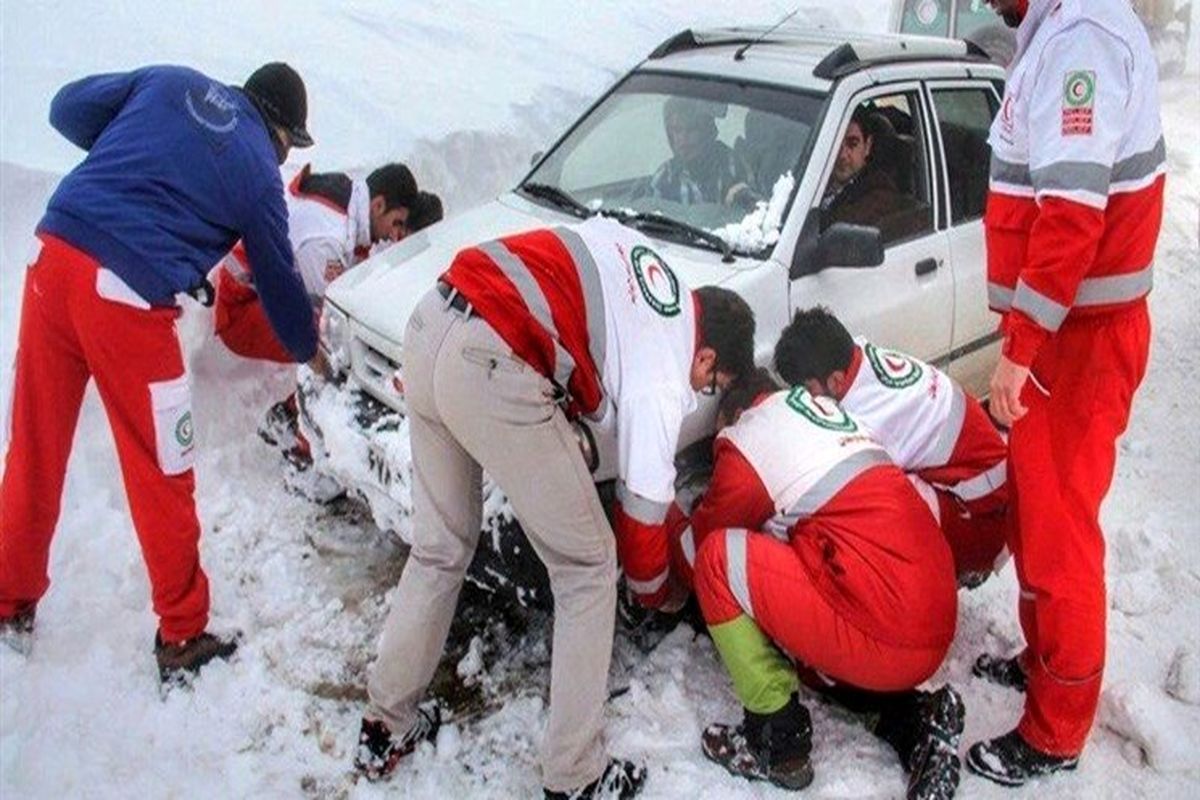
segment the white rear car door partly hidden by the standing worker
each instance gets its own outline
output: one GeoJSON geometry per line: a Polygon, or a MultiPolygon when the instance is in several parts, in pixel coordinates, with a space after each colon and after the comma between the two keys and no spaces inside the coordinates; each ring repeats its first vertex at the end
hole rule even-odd
{"type": "Polygon", "coordinates": [[[989,80],[944,80],[926,84],[937,133],[948,210],[949,270],[954,276],[952,377],[983,395],[996,365],[1000,318],[988,309],[988,257],[983,213],[988,201],[991,157],[988,131],[1000,108],[989,80]]]}

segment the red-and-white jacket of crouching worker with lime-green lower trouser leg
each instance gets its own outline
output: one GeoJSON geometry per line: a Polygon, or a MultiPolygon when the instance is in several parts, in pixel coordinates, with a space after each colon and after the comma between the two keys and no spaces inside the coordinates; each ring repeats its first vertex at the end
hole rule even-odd
{"type": "Polygon", "coordinates": [[[883,640],[954,633],[950,551],[934,518],[868,428],[803,387],[763,396],[714,443],[713,480],[679,537],[680,577],[714,530],[790,542],[827,602],[883,640]],[[912,630],[878,630],[904,599],[912,630]]]}

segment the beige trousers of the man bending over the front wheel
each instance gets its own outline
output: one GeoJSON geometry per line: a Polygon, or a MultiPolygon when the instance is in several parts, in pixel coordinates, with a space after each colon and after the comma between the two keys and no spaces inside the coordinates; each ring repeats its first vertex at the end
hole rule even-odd
{"type": "Polygon", "coordinates": [[[404,356],[413,549],[368,681],[368,715],[400,730],[414,720],[479,540],[486,469],[546,564],[554,596],[542,781],[553,790],[587,784],[607,762],[617,553],[575,434],[550,383],[515,359],[487,323],[464,320],[436,293],[409,320],[404,356]]]}

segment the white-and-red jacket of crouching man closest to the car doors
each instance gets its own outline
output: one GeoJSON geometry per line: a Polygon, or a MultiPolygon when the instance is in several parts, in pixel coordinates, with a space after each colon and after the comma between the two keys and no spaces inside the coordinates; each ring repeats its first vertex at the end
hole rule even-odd
{"type": "MultiPolygon", "coordinates": [[[[900,469],[949,492],[972,513],[1008,501],[1008,446],[979,402],[919,359],[854,339],[839,401],[900,469]]],[[[936,504],[935,504],[936,507],[936,504]]]]}

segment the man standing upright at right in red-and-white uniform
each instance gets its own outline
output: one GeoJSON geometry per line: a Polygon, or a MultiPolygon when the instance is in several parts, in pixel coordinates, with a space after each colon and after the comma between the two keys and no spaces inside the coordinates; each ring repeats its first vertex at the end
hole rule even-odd
{"type": "Polygon", "coordinates": [[[1150,40],[1127,0],[992,0],[1018,25],[992,124],[988,295],[1012,426],[1009,549],[1026,649],[977,670],[1027,684],[1016,728],[967,763],[1004,786],[1074,769],[1099,702],[1100,503],[1150,350],[1165,145],[1150,40]]]}

